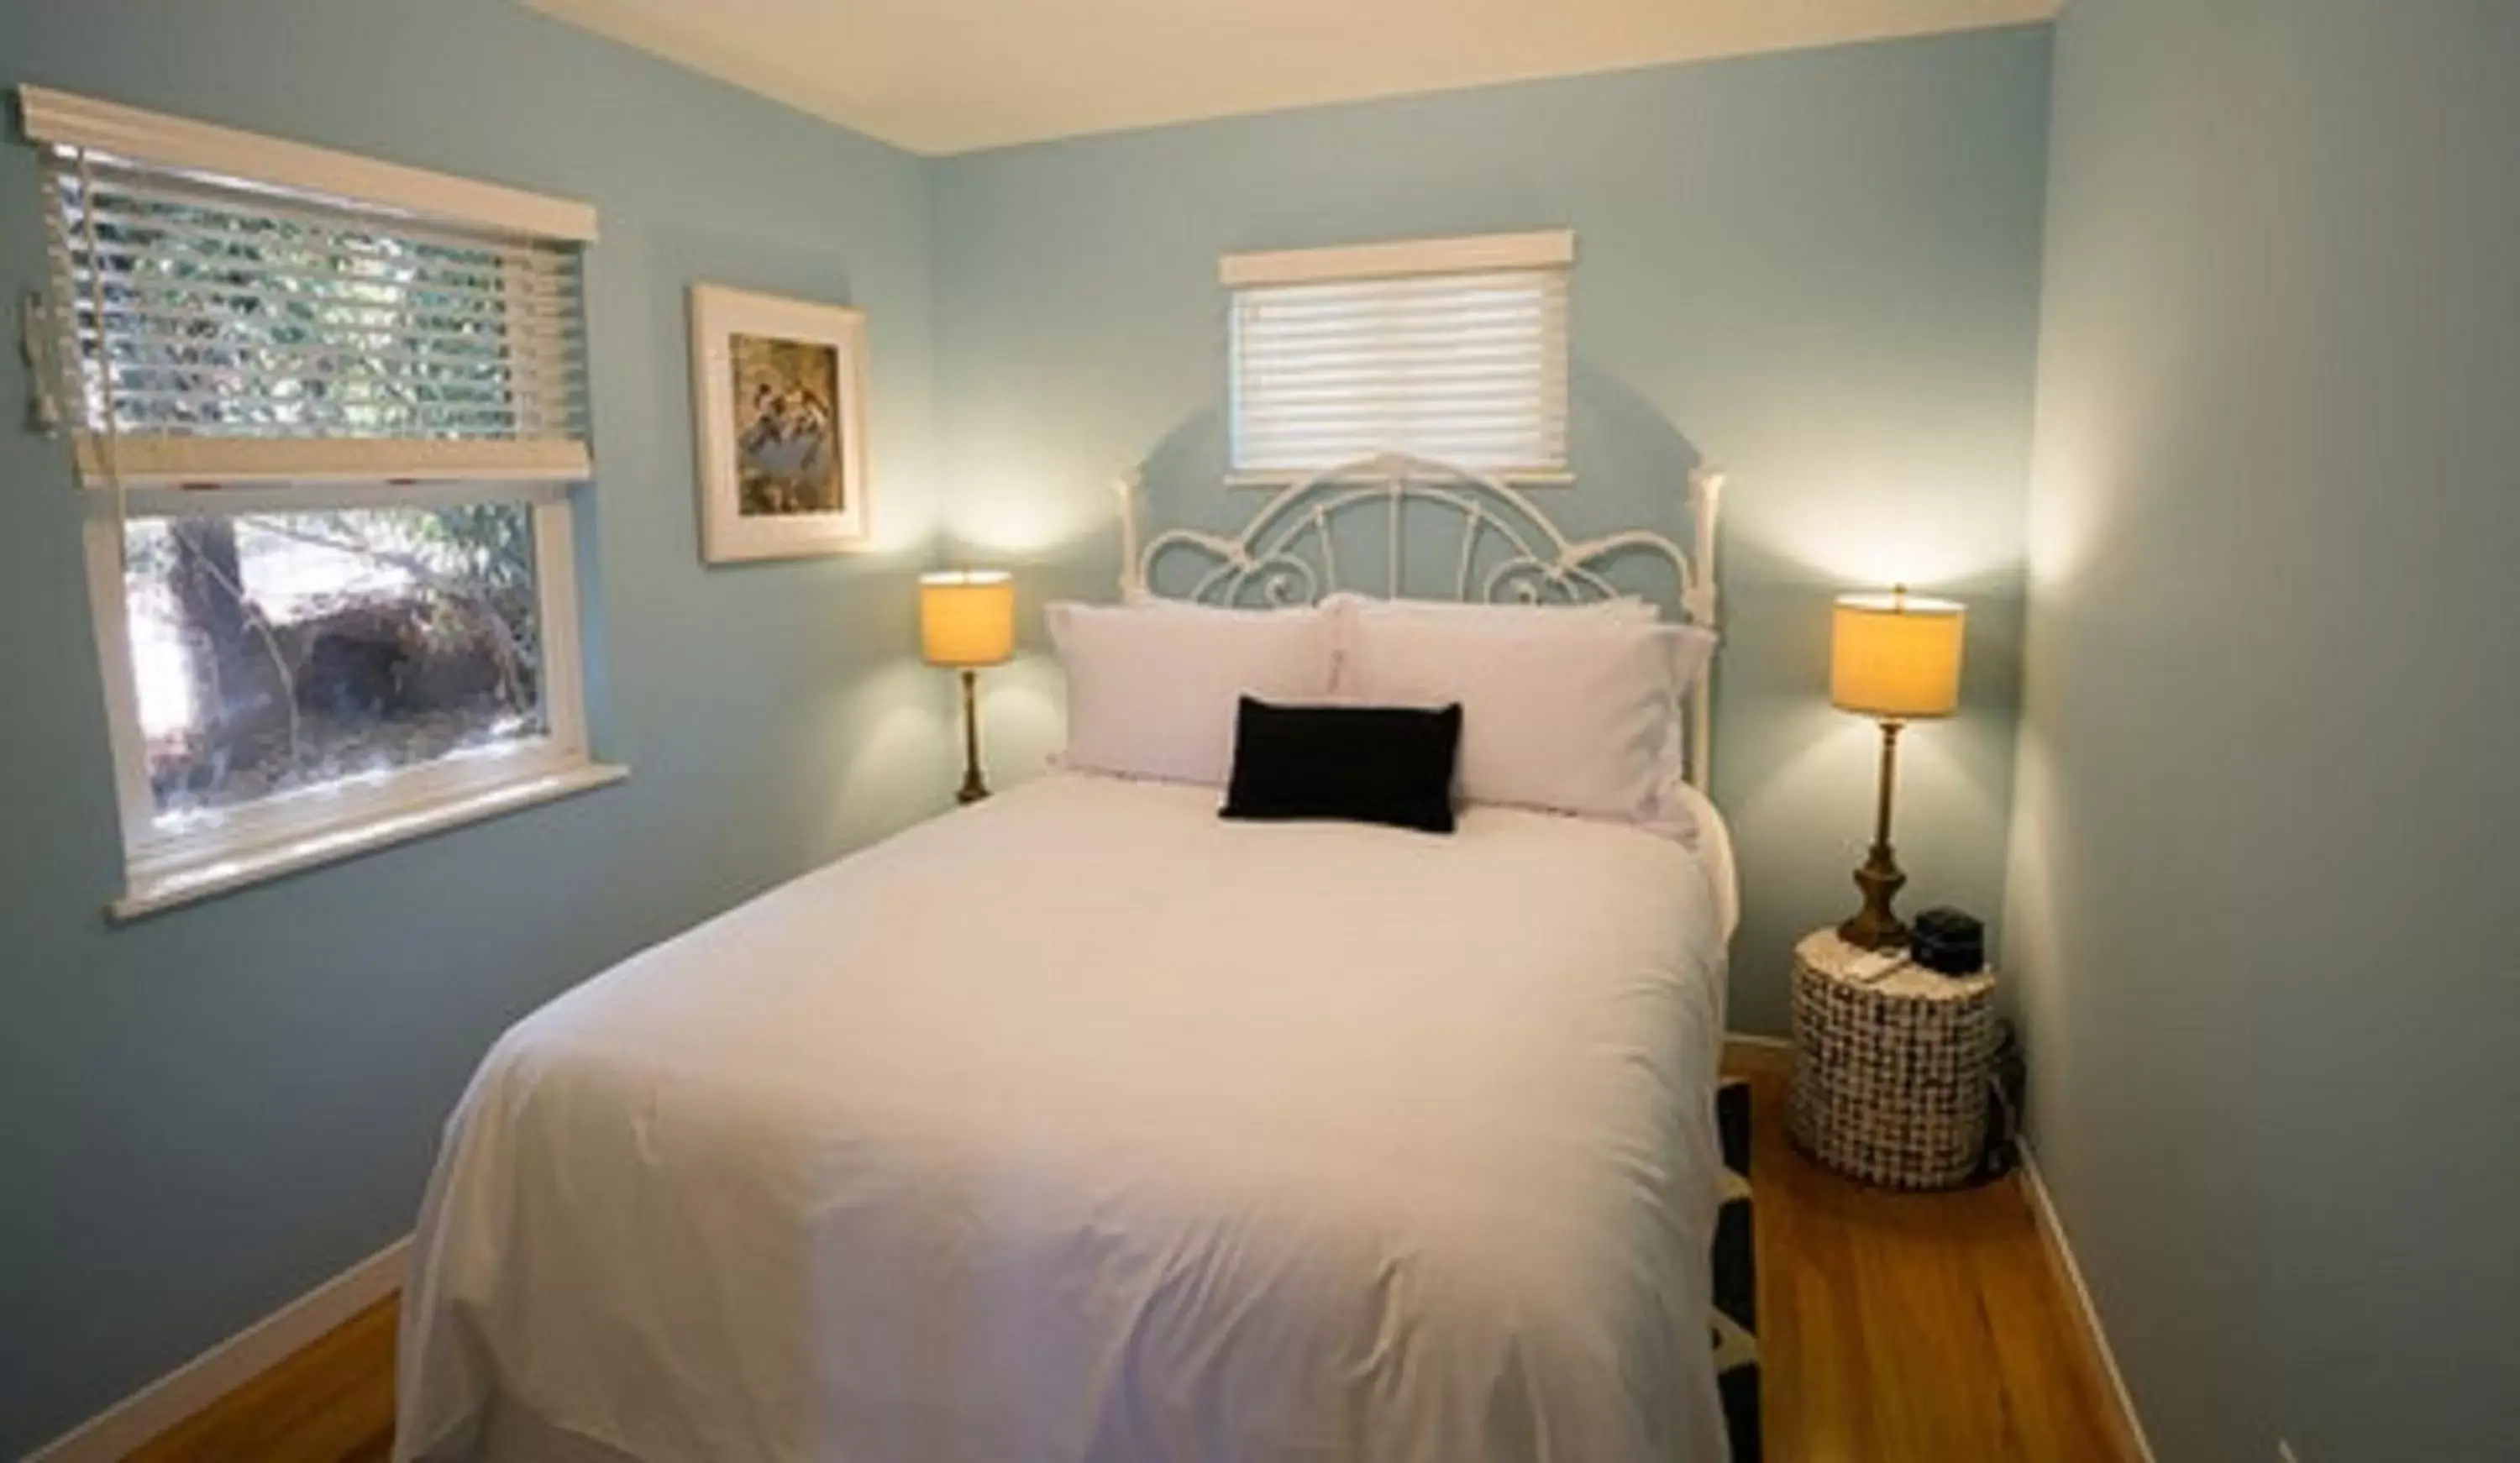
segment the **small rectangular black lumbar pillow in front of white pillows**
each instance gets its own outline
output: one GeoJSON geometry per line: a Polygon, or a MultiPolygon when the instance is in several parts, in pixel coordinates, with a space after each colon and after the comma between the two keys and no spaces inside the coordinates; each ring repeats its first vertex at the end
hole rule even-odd
{"type": "Polygon", "coordinates": [[[1452,833],[1462,708],[1270,705],[1242,698],[1227,818],[1343,818],[1452,833]]]}

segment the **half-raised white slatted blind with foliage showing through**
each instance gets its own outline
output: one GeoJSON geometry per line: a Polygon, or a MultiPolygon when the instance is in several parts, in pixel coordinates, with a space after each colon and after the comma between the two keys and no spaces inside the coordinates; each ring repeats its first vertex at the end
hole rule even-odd
{"type": "Polygon", "coordinates": [[[585,478],[582,252],[76,149],[45,161],[81,471],[585,478]]]}

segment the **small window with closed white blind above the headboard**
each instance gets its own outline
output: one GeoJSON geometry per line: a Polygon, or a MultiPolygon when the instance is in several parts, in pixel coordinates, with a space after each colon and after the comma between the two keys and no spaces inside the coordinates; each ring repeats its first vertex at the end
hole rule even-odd
{"type": "Polygon", "coordinates": [[[1572,259],[1572,234],[1230,254],[1235,473],[1383,451],[1565,473],[1572,259]]]}

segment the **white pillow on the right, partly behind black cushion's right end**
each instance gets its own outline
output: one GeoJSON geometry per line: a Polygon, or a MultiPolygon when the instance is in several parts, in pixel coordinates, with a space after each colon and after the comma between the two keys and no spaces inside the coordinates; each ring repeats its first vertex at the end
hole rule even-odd
{"type": "Polygon", "coordinates": [[[1462,796],[1625,823],[1668,813],[1686,637],[1600,614],[1343,612],[1341,695],[1462,703],[1462,796]]]}

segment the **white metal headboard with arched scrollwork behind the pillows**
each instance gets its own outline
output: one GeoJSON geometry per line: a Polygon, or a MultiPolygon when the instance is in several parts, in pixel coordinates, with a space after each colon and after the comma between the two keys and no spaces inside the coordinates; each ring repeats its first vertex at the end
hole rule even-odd
{"type": "MultiPolygon", "coordinates": [[[[1716,514],[1724,473],[1688,473],[1691,551],[1651,529],[1620,529],[1598,539],[1567,539],[1520,489],[1449,463],[1406,453],[1361,458],[1290,483],[1260,506],[1237,534],[1167,529],[1139,541],[1139,489],[1144,473],[1116,483],[1121,531],[1121,594],[1154,594],[1154,567],[1184,554],[1207,567],[1179,599],[1202,604],[1308,604],[1338,589],[1406,594],[1409,504],[1431,504],[1462,521],[1452,599],[1464,604],[1575,604],[1615,599],[1620,589],[1603,574],[1610,559],[1646,554],[1678,577],[1678,609],[1688,624],[1716,630],[1716,514]],[[1381,587],[1341,577],[1333,526],[1351,514],[1381,511],[1381,587]]],[[[1688,695],[1688,781],[1701,793],[1714,776],[1711,670],[1688,695]]]]}

